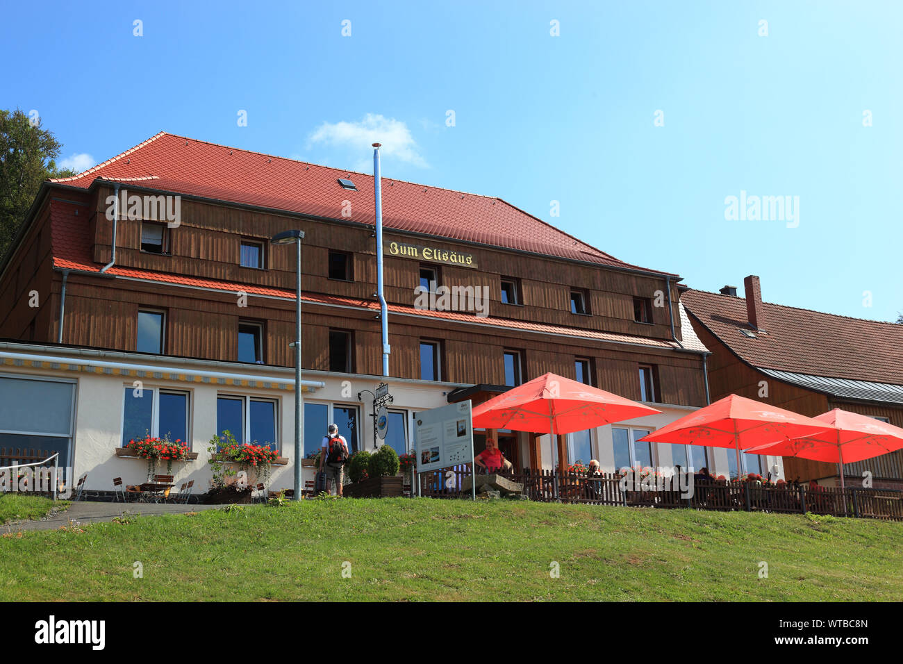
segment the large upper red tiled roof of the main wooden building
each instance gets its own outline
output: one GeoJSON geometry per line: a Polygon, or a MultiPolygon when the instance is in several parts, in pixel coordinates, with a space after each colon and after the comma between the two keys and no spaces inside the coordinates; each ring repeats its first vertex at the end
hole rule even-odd
{"type": "MultiPolygon", "coordinates": [[[[135,186],[373,225],[373,176],[160,132],[84,173],[50,182],[88,189],[98,178],[135,186]],[[343,189],[349,178],[357,192],[343,189]],[[351,202],[350,218],[342,215],[351,202]]],[[[382,179],[386,229],[452,238],[610,267],[633,266],[499,198],[382,179]]]]}

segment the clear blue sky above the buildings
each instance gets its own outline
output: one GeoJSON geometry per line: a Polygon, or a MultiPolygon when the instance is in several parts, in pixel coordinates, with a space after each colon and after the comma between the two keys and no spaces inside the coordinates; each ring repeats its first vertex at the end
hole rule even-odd
{"type": "Polygon", "coordinates": [[[38,110],[78,165],[163,129],[369,172],[377,135],[385,176],[499,196],[687,285],[903,311],[903,4],[321,5],[8,5],[0,108],[38,110]],[[726,220],[741,191],[798,197],[798,225],[726,220]]]}

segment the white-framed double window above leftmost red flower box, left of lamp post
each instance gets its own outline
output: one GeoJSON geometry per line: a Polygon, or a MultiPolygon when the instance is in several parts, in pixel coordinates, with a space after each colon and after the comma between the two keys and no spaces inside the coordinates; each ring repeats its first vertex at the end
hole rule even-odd
{"type": "Polygon", "coordinates": [[[145,435],[154,438],[168,436],[189,443],[188,392],[162,388],[126,387],[126,401],[122,416],[122,445],[141,440],[145,435]]]}

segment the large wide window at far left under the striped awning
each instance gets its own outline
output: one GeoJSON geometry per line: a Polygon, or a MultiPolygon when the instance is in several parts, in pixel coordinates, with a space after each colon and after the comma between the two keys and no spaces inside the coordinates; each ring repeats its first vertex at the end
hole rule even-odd
{"type": "Polygon", "coordinates": [[[0,376],[0,447],[60,453],[60,467],[71,462],[75,383],[0,376]]]}

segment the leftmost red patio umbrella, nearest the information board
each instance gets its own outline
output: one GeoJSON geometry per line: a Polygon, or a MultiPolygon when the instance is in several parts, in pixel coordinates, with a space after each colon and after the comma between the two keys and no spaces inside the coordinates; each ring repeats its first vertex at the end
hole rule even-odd
{"type": "Polygon", "coordinates": [[[656,415],[656,410],[603,389],[546,373],[473,409],[473,426],[554,435],[656,415]]]}

